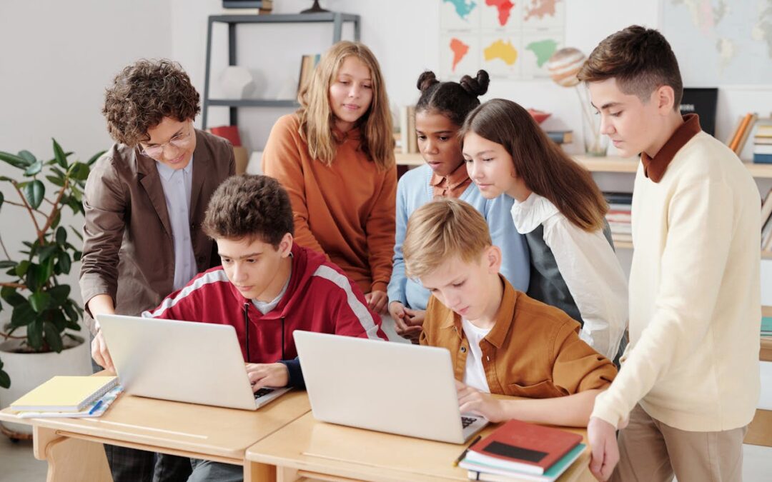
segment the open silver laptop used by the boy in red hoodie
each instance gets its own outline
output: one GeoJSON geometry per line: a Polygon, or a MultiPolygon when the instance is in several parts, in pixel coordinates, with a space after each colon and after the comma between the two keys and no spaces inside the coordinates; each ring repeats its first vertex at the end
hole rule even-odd
{"type": "Polygon", "coordinates": [[[124,390],[176,402],[256,410],[289,388],[252,393],[230,325],[97,315],[124,390]]]}

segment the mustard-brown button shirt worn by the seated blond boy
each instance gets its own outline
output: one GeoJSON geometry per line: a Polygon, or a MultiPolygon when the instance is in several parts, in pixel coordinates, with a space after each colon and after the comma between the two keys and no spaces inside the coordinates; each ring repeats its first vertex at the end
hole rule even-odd
{"type": "MultiPolygon", "coordinates": [[[[501,280],[504,293],[496,324],[480,341],[490,393],[553,398],[611,384],[616,367],[579,339],[578,322],[516,291],[503,276],[501,280]]],[[[434,296],[426,307],[421,344],[449,349],[455,378],[464,378],[469,340],[461,316],[434,296]]]]}

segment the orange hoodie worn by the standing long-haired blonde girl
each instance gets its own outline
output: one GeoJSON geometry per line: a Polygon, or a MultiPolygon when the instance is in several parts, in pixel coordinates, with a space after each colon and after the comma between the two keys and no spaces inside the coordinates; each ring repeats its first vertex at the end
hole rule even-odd
{"type": "Polygon", "coordinates": [[[311,159],[296,114],[273,125],[262,170],[289,193],[295,241],[326,254],[363,292],[386,291],[394,254],[397,168],[379,170],[360,149],[360,132],[342,134],[327,167],[311,159]]]}

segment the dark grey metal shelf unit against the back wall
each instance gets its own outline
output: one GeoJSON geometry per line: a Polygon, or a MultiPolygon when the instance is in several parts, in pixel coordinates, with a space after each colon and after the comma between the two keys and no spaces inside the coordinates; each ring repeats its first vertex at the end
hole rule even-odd
{"type": "Polygon", "coordinates": [[[239,107],[296,107],[296,99],[210,99],[209,77],[212,68],[212,25],[215,22],[228,24],[228,65],[236,65],[236,25],[242,23],[332,23],[333,43],[340,41],[344,22],[354,23],[354,40],[360,37],[359,15],[340,12],[298,13],[278,15],[210,15],[206,30],[206,71],[204,77],[204,105],[201,125],[207,127],[208,108],[229,107],[230,124],[238,123],[239,107]]]}

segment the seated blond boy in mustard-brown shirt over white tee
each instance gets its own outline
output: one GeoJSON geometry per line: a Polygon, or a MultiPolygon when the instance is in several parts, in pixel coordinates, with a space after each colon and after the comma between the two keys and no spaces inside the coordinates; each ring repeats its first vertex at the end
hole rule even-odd
{"type": "Polygon", "coordinates": [[[615,366],[579,339],[578,322],[499,275],[501,250],[479,212],[456,199],[425,204],[403,249],[408,276],[432,292],[420,342],[449,349],[462,412],[587,425],[615,366]]]}

